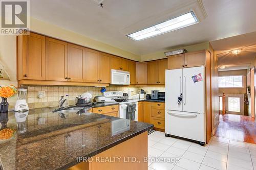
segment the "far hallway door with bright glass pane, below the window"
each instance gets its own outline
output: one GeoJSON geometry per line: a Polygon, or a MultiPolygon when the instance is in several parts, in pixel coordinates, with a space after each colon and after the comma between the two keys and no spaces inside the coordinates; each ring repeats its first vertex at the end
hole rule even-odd
{"type": "Polygon", "coordinates": [[[244,95],[243,94],[225,94],[226,113],[244,115],[244,95]]]}

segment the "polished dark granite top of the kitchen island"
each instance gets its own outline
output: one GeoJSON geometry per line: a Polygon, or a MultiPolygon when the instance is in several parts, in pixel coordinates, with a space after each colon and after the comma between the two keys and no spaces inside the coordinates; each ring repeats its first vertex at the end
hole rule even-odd
{"type": "Polygon", "coordinates": [[[0,113],[2,128],[7,121],[7,127],[17,132],[23,129],[20,127],[27,127],[27,132],[0,140],[0,164],[4,170],[65,169],[76,165],[79,156],[95,156],[153,128],[151,124],[85,110],[80,114],[52,113],[53,110],[31,109],[25,119],[14,112],[0,113]]]}

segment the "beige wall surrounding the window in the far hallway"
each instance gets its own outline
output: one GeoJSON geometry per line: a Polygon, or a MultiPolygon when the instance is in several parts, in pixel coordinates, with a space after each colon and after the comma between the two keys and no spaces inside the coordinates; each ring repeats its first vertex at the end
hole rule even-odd
{"type": "Polygon", "coordinates": [[[219,93],[245,94],[246,86],[247,86],[246,85],[247,69],[219,71],[219,76],[237,76],[237,75],[243,75],[243,88],[219,88],[219,93]]]}

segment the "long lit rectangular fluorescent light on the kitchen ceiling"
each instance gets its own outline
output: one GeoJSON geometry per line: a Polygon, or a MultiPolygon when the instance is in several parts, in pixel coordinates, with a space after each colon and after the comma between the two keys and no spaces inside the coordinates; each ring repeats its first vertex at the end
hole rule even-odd
{"type": "Polygon", "coordinates": [[[146,38],[154,37],[163,33],[178,30],[183,27],[187,27],[198,23],[198,19],[193,11],[183,14],[179,17],[164,21],[158,25],[146,28],[144,30],[126,35],[135,41],[143,40],[146,38]]]}

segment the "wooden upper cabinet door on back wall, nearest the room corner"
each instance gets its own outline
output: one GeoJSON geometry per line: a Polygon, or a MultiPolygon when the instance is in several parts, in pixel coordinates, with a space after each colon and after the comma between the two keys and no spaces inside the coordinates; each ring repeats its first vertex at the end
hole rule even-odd
{"type": "Polygon", "coordinates": [[[147,84],[146,62],[136,62],[136,84],[147,84]]]}

